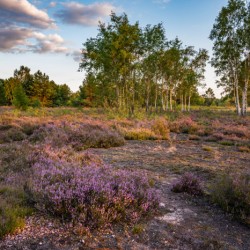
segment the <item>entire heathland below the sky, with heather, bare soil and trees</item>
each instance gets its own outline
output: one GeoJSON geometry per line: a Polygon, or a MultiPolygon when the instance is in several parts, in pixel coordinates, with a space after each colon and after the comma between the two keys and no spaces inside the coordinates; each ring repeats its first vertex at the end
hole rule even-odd
{"type": "Polygon", "coordinates": [[[0,80],[0,249],[249,249],[249,10],[210,34],[221,99],[205,49],[126,14],[83,44],[78,92],[0,80]]]}

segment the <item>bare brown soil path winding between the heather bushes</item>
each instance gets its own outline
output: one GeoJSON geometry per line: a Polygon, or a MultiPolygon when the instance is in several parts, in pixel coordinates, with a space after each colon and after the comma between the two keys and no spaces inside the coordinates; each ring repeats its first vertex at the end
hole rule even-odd
{"type": "Polygon", "coordinates": [[[184,172],[195,172],[209,184],[218,171],[249,171],[249,153],[236,146],[191,141],[187,135],[172,135],[172,143],[127,141],[122,147],[89,151],[116,167],[144,170],[155,179],[160,213],[142,222],[138,234],[116,225],[82,236],[70,225],[36,214],[27,219],[24,230],[0,241],[0,249],[250,249],[248,227],[206,198],[171,191],[172,182],[184,172]]]}

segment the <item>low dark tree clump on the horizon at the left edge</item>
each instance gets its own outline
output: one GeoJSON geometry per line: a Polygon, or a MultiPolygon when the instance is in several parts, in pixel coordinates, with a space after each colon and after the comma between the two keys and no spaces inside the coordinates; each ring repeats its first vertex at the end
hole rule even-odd
{"type": "Polygon", "coordinates": [[[20,109],[70,105],[73,93],[67,84],[58,85],[40,70],[31,74],[21,66],[13,77],[0,79],[0,105],[14,105],[20,109]]]}

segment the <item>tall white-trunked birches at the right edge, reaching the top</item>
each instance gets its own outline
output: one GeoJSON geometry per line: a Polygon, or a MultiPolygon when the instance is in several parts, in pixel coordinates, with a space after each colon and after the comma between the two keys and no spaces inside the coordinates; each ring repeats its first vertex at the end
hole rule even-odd
{"type": "Polygon", "coordinates": [[[234,93],[238,115],[246,115],[250,81],[250,3],[229,0],[215,20],[210,33],[214,41],[212,65],[220,76],[218,86],[234,93]],[[242,106],[240,103],[242,96],[242,106]]]}

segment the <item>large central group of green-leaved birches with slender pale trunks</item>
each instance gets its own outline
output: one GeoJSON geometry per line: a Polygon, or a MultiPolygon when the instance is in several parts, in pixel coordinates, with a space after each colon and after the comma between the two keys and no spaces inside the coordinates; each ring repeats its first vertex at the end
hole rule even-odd
{"type": "Polygon", "coordinates": [[[167,42],[162,23],[141,28],[126,14],[112,13],[98,31],[84,43],[83,105],[116,107],[134,117],[137,107],[172,110],[177,94],[191,100],[204,77],[206,50],[184,47],[179,39],[167,42]]]}

